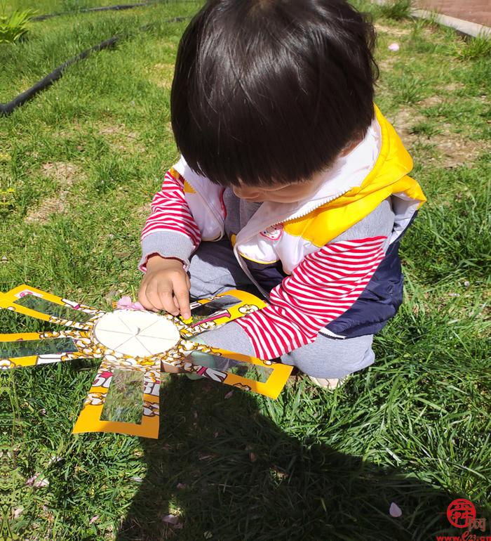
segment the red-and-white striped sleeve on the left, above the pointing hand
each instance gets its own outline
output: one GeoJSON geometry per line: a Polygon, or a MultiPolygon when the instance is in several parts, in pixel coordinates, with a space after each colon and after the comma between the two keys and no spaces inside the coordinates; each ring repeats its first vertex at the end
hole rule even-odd
{"type": "Polygon", "coordinates": [[[182,233],[191,239],[193,249],[199,246],[201,234],[189,210],[184,195],[184,178],[170,169],[164,178],[162,189],[152,200],[152,214],[142,231],[142,240],[161,231],[182,233]]]}

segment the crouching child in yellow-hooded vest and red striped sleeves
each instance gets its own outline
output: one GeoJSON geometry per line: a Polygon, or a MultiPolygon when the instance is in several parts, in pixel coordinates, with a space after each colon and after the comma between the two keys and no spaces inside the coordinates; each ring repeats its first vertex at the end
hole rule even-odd
{"type": "Polygon", "coordinates": [[[373,104],[374,41],[345,0],[206,3],[177,53],[182,157],[142,233],[145,308],[189,318],[189,295],[255,286],[269,306],[206,344],[281,358],[326,388],[373,363],[424,202],[373,104]]]}

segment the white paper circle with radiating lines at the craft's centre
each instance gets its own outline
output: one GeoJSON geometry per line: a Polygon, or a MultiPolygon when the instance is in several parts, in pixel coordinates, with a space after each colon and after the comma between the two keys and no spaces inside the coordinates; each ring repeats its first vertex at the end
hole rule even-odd
{"type": "Polygon", "coordinates": [[[163,353],[180,340],[172,321],[152,312],[126,310],[103,315],[95,323],[92,336],[102,346],[130,357],[163,353]]]}

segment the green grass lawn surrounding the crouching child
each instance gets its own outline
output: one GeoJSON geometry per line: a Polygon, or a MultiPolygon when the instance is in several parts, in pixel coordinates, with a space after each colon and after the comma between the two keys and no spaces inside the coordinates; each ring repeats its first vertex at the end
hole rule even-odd
{"type": "MultiPolygon", "coordinates": [[[[1,46],[7,103],[126,33],[1,120],[2,291],[27,283],[105,309],[135,294],[140,231],[177,157],[169,95],[187,22],[166,21],[200,5],[62,15],[1,46]]],[[[403,240],[405,303],[375,339],[375,365],[335,393],[292,379],[276,401],[167,377],[158,441],[71,434],[97,362],[2,372],[0,539],[11,528],[25,541],[434,541],[462,534],[445,516],[457,497],[491,536],[489,48],[365,8],[377,105],[429,199],[403,240]]],[[[0,325],[49,328],[7,311],[0,325]]]]}

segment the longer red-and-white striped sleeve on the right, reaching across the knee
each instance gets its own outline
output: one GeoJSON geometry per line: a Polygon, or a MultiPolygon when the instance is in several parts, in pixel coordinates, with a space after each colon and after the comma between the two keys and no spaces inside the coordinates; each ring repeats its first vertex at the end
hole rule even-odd
{"type": "Polygon", "coordinates": [[[361,295],[384,258],[385,240],[335,242],[305,256],[271,291],[269,306],[236,320],[255,355],[273,359],[315,341],[318,331],[361,295]]]}

